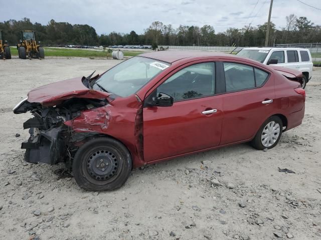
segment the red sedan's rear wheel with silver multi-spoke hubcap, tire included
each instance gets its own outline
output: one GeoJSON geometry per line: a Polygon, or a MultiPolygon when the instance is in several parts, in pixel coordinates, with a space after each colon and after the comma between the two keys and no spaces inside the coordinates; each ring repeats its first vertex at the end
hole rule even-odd
{"type": "Polygon", "coordinates": [[[269,117],[256,133],[252,145],[259,150],[274,147],[281,137],[282,129],[282,120],[278,116],[269,117]]]}

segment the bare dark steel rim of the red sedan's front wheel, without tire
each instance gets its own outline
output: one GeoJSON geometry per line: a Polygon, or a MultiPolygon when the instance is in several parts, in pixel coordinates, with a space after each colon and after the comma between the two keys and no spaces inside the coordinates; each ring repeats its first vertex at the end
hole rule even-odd
{"type": "Polygon", "coordinates": [[[93,152],[87,162],[87,171],[95,180],[107,180],[117,173],[118,160],[115,154],[108,150],[93,152]]]}

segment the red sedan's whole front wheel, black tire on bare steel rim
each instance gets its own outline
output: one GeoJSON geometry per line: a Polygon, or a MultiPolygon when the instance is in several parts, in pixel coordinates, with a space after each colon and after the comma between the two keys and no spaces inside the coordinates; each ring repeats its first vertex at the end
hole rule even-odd
{"type": "Polygon", "coordinates": [[[103,191],[121,187],[129,177],[131,166],[130,153],[121,142],[99,137],[79,147],[72,171],[81,188],[103,191]]]}

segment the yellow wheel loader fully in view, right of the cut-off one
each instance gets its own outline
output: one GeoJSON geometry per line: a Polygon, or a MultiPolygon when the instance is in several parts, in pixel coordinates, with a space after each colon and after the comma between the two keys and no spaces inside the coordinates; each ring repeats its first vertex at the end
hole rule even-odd
{"type": "Polygon", "coordinates": [[[45,50],[40,46],[40,41],[36,42],[36,31],[21,30],[20,43],[17,44],[19,58],[45,58],[45,50]]]}

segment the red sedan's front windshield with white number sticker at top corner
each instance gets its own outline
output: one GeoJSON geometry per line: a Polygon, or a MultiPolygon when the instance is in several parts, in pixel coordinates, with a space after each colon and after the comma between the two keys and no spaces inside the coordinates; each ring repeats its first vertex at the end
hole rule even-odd
{"type": "Polygon", "coordinates": [[[93,88],[123,97],[129,96],[169,65],[167,62],[134,56],[102,74],[93,88]]]}

